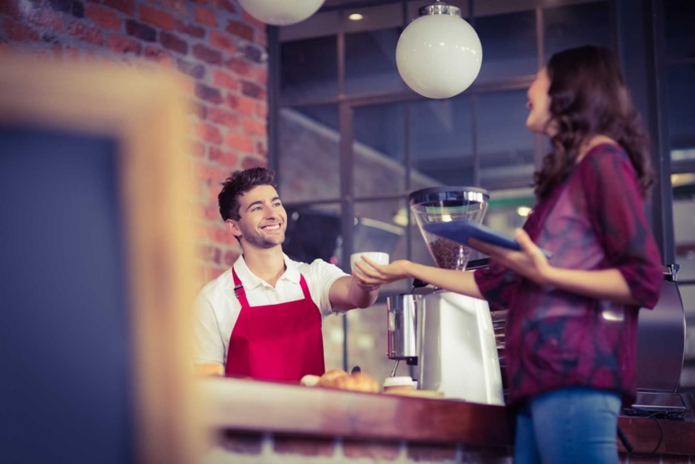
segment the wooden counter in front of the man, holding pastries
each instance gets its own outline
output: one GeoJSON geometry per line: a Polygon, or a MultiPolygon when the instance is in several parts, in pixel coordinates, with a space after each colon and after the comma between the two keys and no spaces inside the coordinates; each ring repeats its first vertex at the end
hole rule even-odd
{"type": "MultiPolygon", "coordinates": [[[[343,462],[361,448],[374,458],[377,447],[386,461],[384,454],[410,462],[423,460],[424,446],[425,461],[512,462],[514,419],[502,406],[227,378],[201,379],[198,386],[206,424],[219,432],[216,445],[226,453],[318,454],[343,462]]],[[[695,456],[694,422],[621,416],[620,425],[639,453],[655,449],[663,430],[655,463],[660,454],[683,463],[695,456]]]]}

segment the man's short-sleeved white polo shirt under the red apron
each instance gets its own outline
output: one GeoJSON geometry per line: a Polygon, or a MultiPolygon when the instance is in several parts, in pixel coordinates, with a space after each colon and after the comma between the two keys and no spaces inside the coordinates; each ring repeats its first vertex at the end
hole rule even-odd
{"type": "MultiPolygon", "coordinates": [[[[309,286],[311,299],[321,311],[321,320],[334,310],[329,301],[329,290],[344,273],[338,266],[316,259],[311,264],[296,262],[283,255],[286,270],[277,280],[275,288],[256,277],[246,265],[243,256],[234,263],[234,271],[243,282],[246,298],[251,306],[277,305],[304,298],[300,285],[300,273],[309,286]]],[[[225,365],[229,337],[239,317],[241,305],[234,295],[234,278],[231,269],[208,283],[195,300],[195,349],[194,362],[218,362],[225,365]]]]}

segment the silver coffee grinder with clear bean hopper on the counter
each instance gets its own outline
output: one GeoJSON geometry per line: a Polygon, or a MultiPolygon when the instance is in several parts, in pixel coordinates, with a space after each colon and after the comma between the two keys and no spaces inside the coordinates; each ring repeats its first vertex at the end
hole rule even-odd
{"type": "MultiPolygon", "coordinates": [[[[434,187],[409,195],[411,214],[437,266],[464,272],[471,248],[430,234],[423,226],[460,219],[480,224],[488,200],[489,193],[475,187],[434,187]]],[[[486,301],[425,285],[387,298],[386,307],[387,354],[416,367],[418,389],[474,403],[504,403],[486,301]]]]}

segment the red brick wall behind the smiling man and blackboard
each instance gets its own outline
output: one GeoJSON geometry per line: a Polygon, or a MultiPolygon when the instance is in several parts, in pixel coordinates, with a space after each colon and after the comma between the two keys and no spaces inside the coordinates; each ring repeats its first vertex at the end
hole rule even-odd
{"type": "Polygon", "coordinates": [[[0,49],[54,60],[164,66],[193,78],[191,214],[202,226],[204,281],[234,262],[240,248],[224,229],[216,202],[220,182],[232,170],[267,161],[261,22],[236,0],[0,0],[0,49]]]}

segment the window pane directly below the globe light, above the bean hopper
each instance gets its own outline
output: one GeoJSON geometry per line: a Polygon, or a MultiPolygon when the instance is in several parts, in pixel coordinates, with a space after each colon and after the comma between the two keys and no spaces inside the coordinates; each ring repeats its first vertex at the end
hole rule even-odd
{"type": "Polygon", "coordinates": [[[411,190],[473,182],[471,98],[409,104],[411,190]]]}

